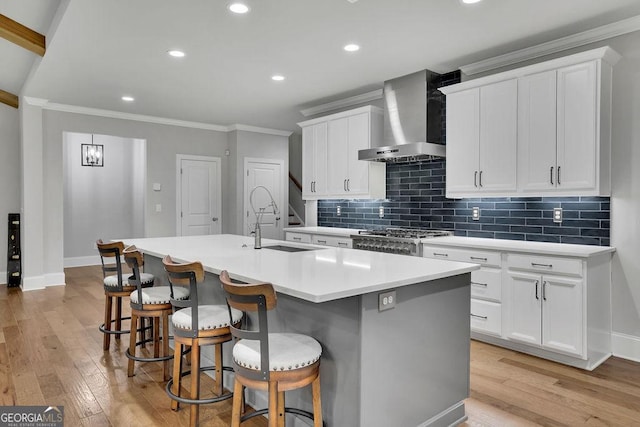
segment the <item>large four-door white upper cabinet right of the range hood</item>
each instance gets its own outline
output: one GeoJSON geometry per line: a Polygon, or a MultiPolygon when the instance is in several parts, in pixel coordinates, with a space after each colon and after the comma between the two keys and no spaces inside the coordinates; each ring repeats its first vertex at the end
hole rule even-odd
{"type": "Polygon", "coordinates": [[[610,195],[611,80],[619,58],[604,47],[441,88],[447,196],[610,195]],[[497,90],[510,82],[513,93],[497,90]]]}

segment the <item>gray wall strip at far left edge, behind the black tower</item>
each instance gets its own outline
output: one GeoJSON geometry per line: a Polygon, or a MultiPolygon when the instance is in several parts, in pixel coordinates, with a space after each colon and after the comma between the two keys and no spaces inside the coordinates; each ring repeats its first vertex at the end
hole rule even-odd
{"type": "Polygon", "coordinates": [[[0,283],[6,283],[7,214],[20,212],[20,114],[0,104],[0,283]]]}

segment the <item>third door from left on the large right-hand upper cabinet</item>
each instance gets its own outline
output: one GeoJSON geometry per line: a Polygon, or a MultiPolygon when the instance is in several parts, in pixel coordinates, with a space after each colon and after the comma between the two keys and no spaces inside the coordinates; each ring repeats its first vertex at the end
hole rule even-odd
{"type": "Polygon", "coordinates": [[[518,188],[556,186],[556,71],[518,79],[518,188]]]}

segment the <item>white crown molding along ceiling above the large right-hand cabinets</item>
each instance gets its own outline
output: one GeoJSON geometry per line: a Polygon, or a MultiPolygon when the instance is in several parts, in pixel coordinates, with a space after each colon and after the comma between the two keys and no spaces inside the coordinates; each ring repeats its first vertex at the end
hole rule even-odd
{"type": "Polygon", "coordinates": [[[470,76],[640,30],[640,15],[460,67],[470,76]]]}

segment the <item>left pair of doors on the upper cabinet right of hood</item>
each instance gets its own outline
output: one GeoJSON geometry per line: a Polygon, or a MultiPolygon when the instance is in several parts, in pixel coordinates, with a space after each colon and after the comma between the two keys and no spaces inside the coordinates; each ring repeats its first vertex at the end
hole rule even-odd
{"type": "Polygon", "coordinates": [[[447,197],[516,190],[517,81],[447,96],[447,197]]]}

